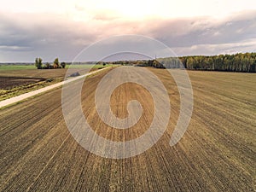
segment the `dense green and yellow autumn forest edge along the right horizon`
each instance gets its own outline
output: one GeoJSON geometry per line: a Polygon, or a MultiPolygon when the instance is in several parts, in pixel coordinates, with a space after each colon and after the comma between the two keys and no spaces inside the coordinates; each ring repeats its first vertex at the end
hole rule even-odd
{"type": "Polygon", "coordinates": [[[191,70],[256,72],[256,53],[237,53],[234,55],[192,55],[166,57],[156,60],[114,61],[113,64],[136,65],[157,68],[187,68],[191,70]]]}

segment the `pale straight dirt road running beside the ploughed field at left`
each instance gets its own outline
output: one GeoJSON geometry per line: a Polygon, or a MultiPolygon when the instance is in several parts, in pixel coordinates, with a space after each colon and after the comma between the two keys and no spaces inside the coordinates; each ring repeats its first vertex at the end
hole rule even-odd
{"type": "Polygon", "coordinates": [[[49,85],[49,86],[47,86],[47,87],[44,87],[44,88],[41,88],[41,89],[39,89],[39,90],[33,90],[33,91],[31,91],[31,92],[22,94],[22,95],[20,95],[20,96],[11,97],[11,98],[9,98],[9,99],[6,99],[6,100],[3,100],[2,102],[0,102],[0,108],[3,108],[3,107],[5,107],[5,106],[11,105],[11,104],[14,104],[15,102],[20,102],[20,101],[22,101],[22,100],[25,100],[25,99],[31,97],[31,96],[36,96],[36,95],[38,95],[38,94],[40,94],[40,93],[43,93],[43,92],[45,92],[45,91],[47,91],[47,90],[55,89],[55,88],[57,88],[57,87],[60,87],[60,86],[63,85],[63,84],[67,84],[67,83],[73,82],[73,81],[75,81],[75,80],[82,79],[82,78],[84,78],[84,77],[86,77],[86,76],[89,76],[89,75],[94,74],[94,73],[98,73],[98,72],[100,72],[100,71],[102,71],[102,70],[105,70],[105,69],[107,69],[107,68],[108,68],[108,67],[104,67],[104,68],[99,69],[99,70],[96,70],[96,71],[94,71],[94,72],[90,72],[90,73],[86,73],[86,74],[84,74],[84,75],[80,75],[80,76],[75,77],[75,78],[73,78],[73,79],[67,79],[67,80],[61,81],[60,83],[57,83],[57,84],[51,84],[51,85],[49,85]]]}

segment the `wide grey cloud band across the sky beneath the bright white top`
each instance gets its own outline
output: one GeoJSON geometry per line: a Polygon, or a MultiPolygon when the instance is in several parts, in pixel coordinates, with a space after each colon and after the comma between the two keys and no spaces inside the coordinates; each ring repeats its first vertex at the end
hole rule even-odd
{"type": "MultiPolygon", "coordinates": [[[[156,38],[177,55],[212,55],[256,49],[256,11],[224,19],[122,20],[95,15],[86,22],[63,15],[0,14],[0,61],[44,61],[55,56],[72,61],[84,47],[113,35],[156,38]]],[[[114,46],[114,45],[113,45],[114,46]]],[[[147,47],[147,46],[145,46],[147,47]]],[[[89,58],[90,60],[90,58],[89,58]]]]}

